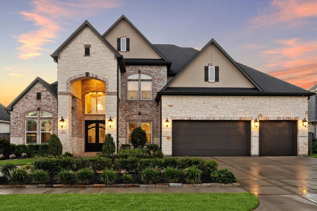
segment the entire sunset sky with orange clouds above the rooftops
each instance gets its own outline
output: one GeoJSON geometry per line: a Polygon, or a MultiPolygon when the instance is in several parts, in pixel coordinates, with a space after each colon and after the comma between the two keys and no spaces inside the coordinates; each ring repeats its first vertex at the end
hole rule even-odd
{"type": "Polygon", "coordinates": [[[37,76],[86,19],[103,34],[122,14],[153,44],[201,49],[214,38],[237,62],[309,89],[317,81],[317,1],[0,1],[0,102],[37,76]]]}

